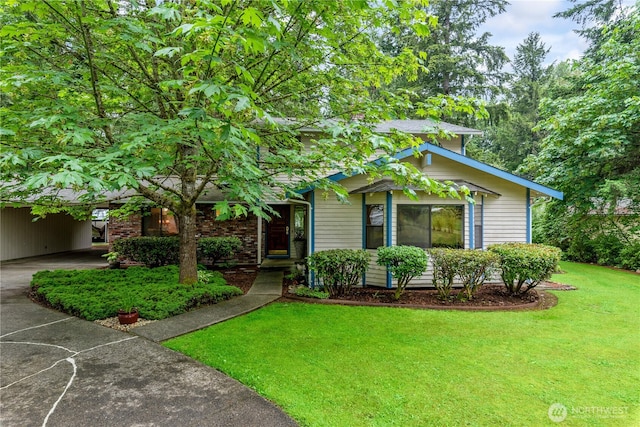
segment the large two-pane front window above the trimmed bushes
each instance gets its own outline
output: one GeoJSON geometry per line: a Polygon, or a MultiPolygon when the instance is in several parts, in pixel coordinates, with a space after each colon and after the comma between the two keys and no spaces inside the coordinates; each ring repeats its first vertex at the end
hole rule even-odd
{"type": "Polygon", "coordinates": [[[398,245],[463,248],[464,207],[398,205],[398,245]]]}

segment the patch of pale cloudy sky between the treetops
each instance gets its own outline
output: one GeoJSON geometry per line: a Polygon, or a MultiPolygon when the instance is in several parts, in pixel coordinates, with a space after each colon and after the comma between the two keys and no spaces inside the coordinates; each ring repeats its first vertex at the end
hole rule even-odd
{"type": "Polygon", "coordinates": [[[516,47],[532,32],[540,33],[542,42],[551,48],[546,64],[578,59],[587,48],[587,43],[573,31],[580,28],[578,24],[553,17],[569,9],[572,3],[566,0],[510,0],[510,3],[505,13],[488,19],[480,29],[493,35],[489,43],[504,47],[509,59],[513,59],[516,47]]]}

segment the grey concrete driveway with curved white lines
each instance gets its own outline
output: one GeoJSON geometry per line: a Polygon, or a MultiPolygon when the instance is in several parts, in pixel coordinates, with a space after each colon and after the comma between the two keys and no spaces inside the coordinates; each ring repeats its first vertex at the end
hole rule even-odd
{"type": "Polygon", "coordinates": [[[0,425],[296,425],[214,369],[27,298],[34,272],[104,266],[99,255],[88,251],[0,266],[0,425]]]}

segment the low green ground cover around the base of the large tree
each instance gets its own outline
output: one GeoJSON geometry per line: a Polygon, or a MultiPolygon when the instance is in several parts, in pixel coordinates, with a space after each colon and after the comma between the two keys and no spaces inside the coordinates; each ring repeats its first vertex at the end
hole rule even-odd
{"type": "Polygon", "coordinates": [[[138,308],[144,319],[164,319],[205,304],[242,295],[218,272],[209,282],[178,283],[178,267],[130,267],[115,270],[55,270],[33,275],[37,298],[53,308],[87,320],[115,316],[118,309],[138,308]]]}

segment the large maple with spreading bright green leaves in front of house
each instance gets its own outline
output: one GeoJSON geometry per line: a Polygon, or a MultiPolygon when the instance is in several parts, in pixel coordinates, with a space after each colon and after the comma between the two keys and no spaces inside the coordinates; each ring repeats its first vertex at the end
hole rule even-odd
{"type": "MultiPolygon", "coordinates": [[[[310,185],[344,197],[323,179],[338,167],[442,190],[389,156],[417,141],[370,130],[398,102],[382,89],[372,99],[372,88],[419,67],[410,51],[382,54],[365,31],[385,21],[383,3],[2,1],[2,201],[80,214],[61,192],[86,213],[127,190],[127,206],[166,207],[178,222],[180,281],[190,283],[195,202],[210,189],[224,192],[222,218],[267,217],[270,200],[310,185]],[[286,116],[299,120],[277,120],[286,116]],[[304,126],[328,137],[304,151],[304,126]],[[376,150],[388,161],[367,163],[376,150]]],[[[398,8],[424,34],[426,14],[398,8]]]]}

